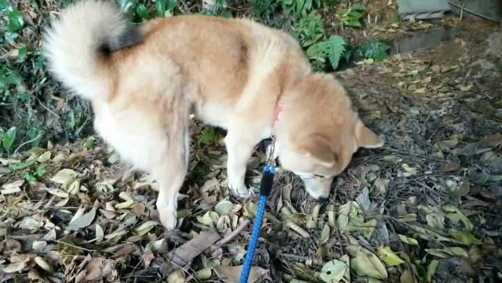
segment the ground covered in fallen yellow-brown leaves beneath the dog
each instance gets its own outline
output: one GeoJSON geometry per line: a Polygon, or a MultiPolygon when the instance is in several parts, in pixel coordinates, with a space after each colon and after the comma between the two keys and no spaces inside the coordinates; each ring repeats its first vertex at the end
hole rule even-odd
{"type": "MultiPolygon", "coordinates": [[[[499,282],[500,38],[464,22],[451,43],[338,72],[386,146],[357,153],[328,204],[280,170],[252,279],[499,282]]],[[[99,139],[2,159],[1,279],[236,282],[257,200],[229,195],[222,133],[210,143],[205,132],[170,232],[155,182],[99,139]]],[[[250,160],[254,187],[263,162],[261,151],[250,160]]]]}

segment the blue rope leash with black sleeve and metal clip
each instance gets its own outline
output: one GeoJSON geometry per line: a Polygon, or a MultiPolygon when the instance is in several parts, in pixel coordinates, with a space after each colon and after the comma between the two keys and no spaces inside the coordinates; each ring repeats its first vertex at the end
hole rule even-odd
{"type": "Polygon", "coordinates": [[[263,171],[264,175],[261,178],[260,197],[259,197],[257,215],[256,217],[254,217],[254,226],[252,229],[250,245],[248,247],[248,252],[246,253],[246,257],[244,259],[243,270],[241,273],[241,279],[239,280],[239,283],[248,283],[248,277],[254,259],[254,251],[256,250],[256,247],[258,245],[261,223],[263,223],[263,218],[265,214],[266,200],[268,198],[268,195],[271,193],[273,185],[273,177],[275,176],[275,167],[273,167],[272,165],[272,156],[274,147],[275,147],[275,139],[273,139],[271,153],[269,153],[268,162],[263,171]]]}

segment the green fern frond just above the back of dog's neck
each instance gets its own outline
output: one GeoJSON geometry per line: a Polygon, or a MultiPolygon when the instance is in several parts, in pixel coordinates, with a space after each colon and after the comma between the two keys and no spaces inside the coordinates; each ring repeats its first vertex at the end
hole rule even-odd
{"type": "Polygon", "coordinates": [[[310,60],[325,63],[328,59],[334,70],[338,68],[342,58],[348,60],[350,56],[350,45],[341,36],[330,36],[327,40],[310,45],[307,49],[307,57],[310,60]]]}

